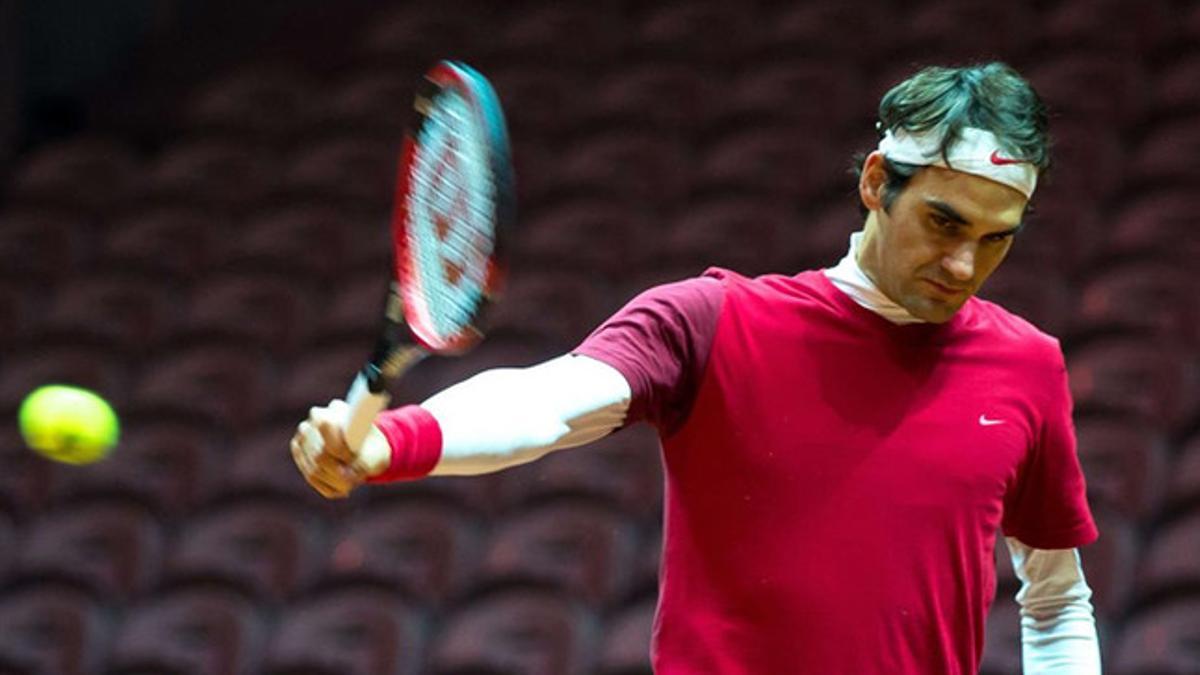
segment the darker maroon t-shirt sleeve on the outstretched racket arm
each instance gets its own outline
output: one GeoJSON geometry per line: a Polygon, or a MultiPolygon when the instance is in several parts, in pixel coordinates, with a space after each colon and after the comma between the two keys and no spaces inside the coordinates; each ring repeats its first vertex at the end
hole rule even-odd
{"type": "Polygon", "coordinates": [[[716,333],[725,283],[700,276],[655,286],[605,321],[571,353],[601,360],[629,382],[625,424],[670,434],[688,417],[716,333]]]}

